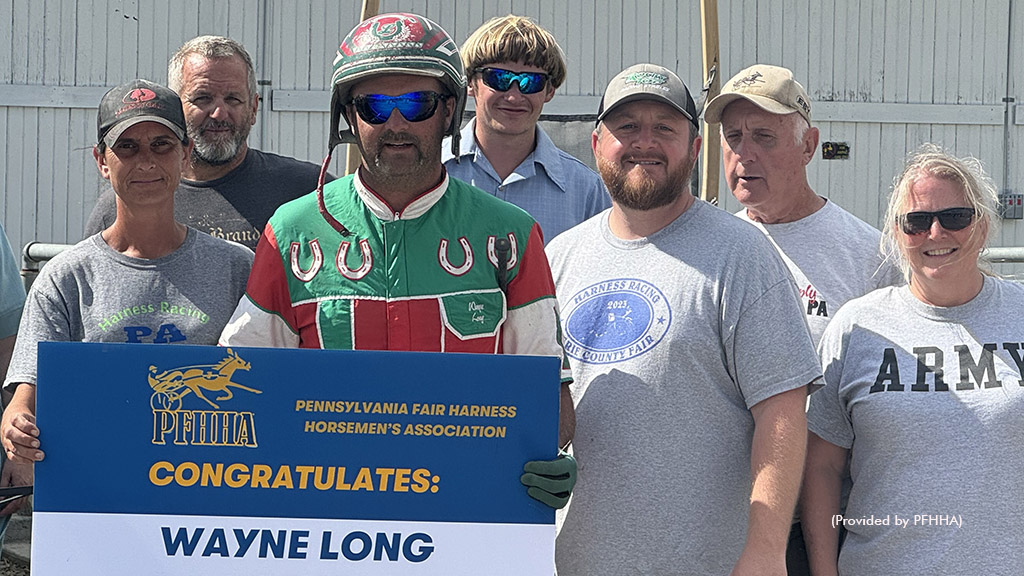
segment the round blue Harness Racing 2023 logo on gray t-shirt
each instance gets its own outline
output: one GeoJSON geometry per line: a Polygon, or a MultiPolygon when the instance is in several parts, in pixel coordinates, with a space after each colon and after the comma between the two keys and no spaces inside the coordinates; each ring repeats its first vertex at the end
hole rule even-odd
{"type": "Polygon", "coordinates": [[[643,280],[606,280],[580,290],[562,311],[565,352],[590,364],[610,364],[651,349],[669,331],[665,294],[643,280]]]}

